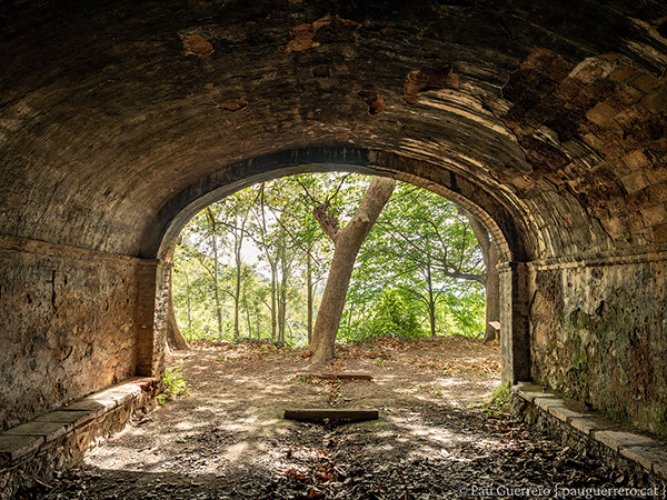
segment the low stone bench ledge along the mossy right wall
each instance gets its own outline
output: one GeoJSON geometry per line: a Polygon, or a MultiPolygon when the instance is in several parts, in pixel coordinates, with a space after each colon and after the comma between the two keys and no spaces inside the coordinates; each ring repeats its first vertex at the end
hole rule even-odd
{"type": "Polygon", "coordinates": [[[613,467],[653,483],[667,482],[667,443],[640,434],[600,416],[584,404],[519,382],[511,388],[510,407],[528,423],[561,438],[581,451],[593,449],[613,467]]]}

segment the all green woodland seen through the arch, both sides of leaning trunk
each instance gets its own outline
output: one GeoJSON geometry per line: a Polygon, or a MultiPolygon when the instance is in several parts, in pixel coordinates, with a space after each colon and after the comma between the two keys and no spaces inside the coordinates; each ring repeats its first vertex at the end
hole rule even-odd
{"type": "MultiPolygon", "coordinates": [[[[334,250],[313,203],[329,203],[345,227],[367,186],[359,174],[285,177],[195,216],[181,233],[172,278],[186,340],[305,344],[308,289],[315,320],[334,250]]],[[[357,258],[339,340],[478,337],[484,286],[457,276],[482,272],[466,216],[442,197],[399,182],[357,258]]]]}

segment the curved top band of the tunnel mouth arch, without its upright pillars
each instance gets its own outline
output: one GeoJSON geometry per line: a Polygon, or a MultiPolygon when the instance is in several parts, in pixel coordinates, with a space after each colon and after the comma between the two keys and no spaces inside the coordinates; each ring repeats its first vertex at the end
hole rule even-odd
{"type": "Polygon", "coordinates": [[[497,241],[501,259],[526,260],[522,231],[502,200],[480,183],[427,161],[362,148],[306,148],[235,163],[178,193],[145,234],[142,254],[169,258],[185,224],[200,210],[240,189],[278,177],[317,171],[356,171],[389,176],[434,191],[480,219],[497,241]]]}

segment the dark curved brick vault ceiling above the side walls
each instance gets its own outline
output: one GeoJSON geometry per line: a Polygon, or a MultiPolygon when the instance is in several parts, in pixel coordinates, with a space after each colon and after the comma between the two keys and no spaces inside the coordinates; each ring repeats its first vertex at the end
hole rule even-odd
{"type": "Polygon", "coordinates": [[[667,241],[661,0],[1,9],[0,233],[155,257],[288,158],[454,172],[532,259],[667,241]]]}

